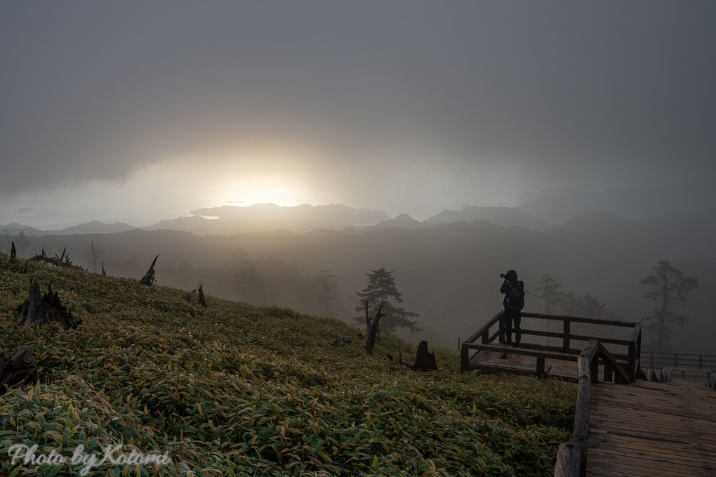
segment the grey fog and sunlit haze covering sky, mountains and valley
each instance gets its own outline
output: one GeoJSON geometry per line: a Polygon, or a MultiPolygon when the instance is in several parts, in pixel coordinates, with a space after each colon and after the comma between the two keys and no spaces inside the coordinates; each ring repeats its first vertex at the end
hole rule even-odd
{"type": "Polygon", "coordinates": [[[638,320],[670,260],[700,280],[674,343],[712,353],[714,24],[707,1],[4,2],[0,231],[87,266],[94,240],[116,276],[160,254],[160,284],[230,299],[248,261],[261,304],[312,313],[329,270],[347,320],[385,267],[450,346],[506,269],[638,320]]]}

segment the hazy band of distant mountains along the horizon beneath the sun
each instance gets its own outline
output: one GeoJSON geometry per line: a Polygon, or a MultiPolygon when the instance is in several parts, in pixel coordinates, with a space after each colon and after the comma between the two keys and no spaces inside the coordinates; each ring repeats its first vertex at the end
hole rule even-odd
{"type": "MultiPolygon", "coordinates": [[[[601,192],[569,190],[523,194],[525,201],[518,207],[478,207],[465,205],[460,210],[445,210],[425,221],[417,221],[407,214],[390,218],[383,211],[351,208],[340,204],[295,207],[271,203],[253,206],[222,206],[199,208],[191,216],[167,219],[143,230],[176,230],[196,235],[232,235],[253,231],[292,231],[306,233],[313,230],[334,230],[361,233],[381,228],[415,230],[450,223],[487,221],[503,227],[523,227],[533,231],[554,233],[600,233],[627,221],[642,221],[667,213],[695,213],[689,204],[693,200],[669,197],[658,189],[613,188],[601,192]]],[[[702,204],[704,209],[709,204],[702,204]]],[[[127,223],[91,221],[61,230],[38,230],[21,223],[0,225],[0,232],[9,236],[73,235],[84,233],[116,233],[132,230],[127,223]]]]}

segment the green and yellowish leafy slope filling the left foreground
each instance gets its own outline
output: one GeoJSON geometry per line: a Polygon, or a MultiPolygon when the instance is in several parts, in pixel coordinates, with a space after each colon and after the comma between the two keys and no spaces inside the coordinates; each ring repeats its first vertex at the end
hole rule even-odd
{"type": "Polygon", "coordinates": [[[461,375],[448,350],[440,371],[411,372],[386,356],[414,344],[383,337],[369,357],[332,319],[212,297],[203,309],[177,289],[22,265],[0,254],[0,359],[32,344],[39,384],[0,397],[0,475],[82,468],[11,466],[12,444],[101,457],[122,443],[173,463],[88,475],[541,476],[569,440],[574,390],[553,380],[461,375]],[[52,280],[82,326],[17,326],[30,278],[52,280]]]}

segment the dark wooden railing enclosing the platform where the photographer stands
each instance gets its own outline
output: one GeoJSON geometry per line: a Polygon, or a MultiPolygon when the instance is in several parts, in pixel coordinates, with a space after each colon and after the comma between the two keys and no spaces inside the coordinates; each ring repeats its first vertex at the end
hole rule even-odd
{"type": "MultiPolygon", "coordinates": [[[[460,370],[468,371],[471,369],[479,369],[478,364],[473,364],[471,360],[475,354],[480,351],[493,350],[494,344],[505,343],[505,328],[502,324],[502,315],[504,312],[495,314],[487,323],[483,325],[477,332],[469,337],[460,345],[460,370]],[[472,355],[470,354],[472,352],[472,355]]],[[[613,319],[593,319],[585,317],[568,317],[554,314],[541,314],[532,312],[522,312],[523,318],[533,318],[544,322],[556,322],[561,325],[561,332],[543,331],[539,329],[529,329],[521,327],[523,336],[536,336],[546,338],[557,338],[560,342],[558,346],[550,346],[546,344],[528,344],[522,350],[507,349],[503,352],[516,355],[533,355],[538,357],[536,374],[544,373],[544,358],[556,360],[572,360],[576,361],[584,347],[580,345],[575,347],[577,343],[589,342],[591,339],[598,339],[602,347],[604,344],[617,345],[621,350],[626,352],[611,353],[616,360],[625,362],[625,371],[628,381],[633,382],[640,370],[640,355],[642,350],[642,325],[636,322],[622,322],[613,319]],[[621,329],[632,328],[629,339],[619,339],[609,336],[595,337],[586,336],[584,334],[574,334],[571,332],[573,323],[597,324],[603,327],[617,327],[621,329]],[[541,367],[541,369],[540,369],[541,367]]],[[[523,324],[525,322],[523,321],[523,324]]],[[[548,328],[548,327],[547,327],[548,328]]],[[[524,342],[524,341],[523,341],[524,342]]],[[[605,349],[606,351],[606,349],[605,349]]],[[[611,369],[610,369],[611,372],[611,369]]],[[[611,380],[611,378],[610,378],[611,380]]]]}

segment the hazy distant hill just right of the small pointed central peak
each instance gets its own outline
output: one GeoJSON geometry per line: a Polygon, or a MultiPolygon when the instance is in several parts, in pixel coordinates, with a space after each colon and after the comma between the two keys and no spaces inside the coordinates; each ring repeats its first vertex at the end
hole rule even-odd
{"type": "Polygon", "coordinates": [[[424,223],[437,225],[440,223],[488,221],[504,227],[520,226],[532,230],[543,231],[555,225],[528,216],[513,207],[476,207],[463,206],[460,211],[442,211],[428,218],[424,223]]]}

